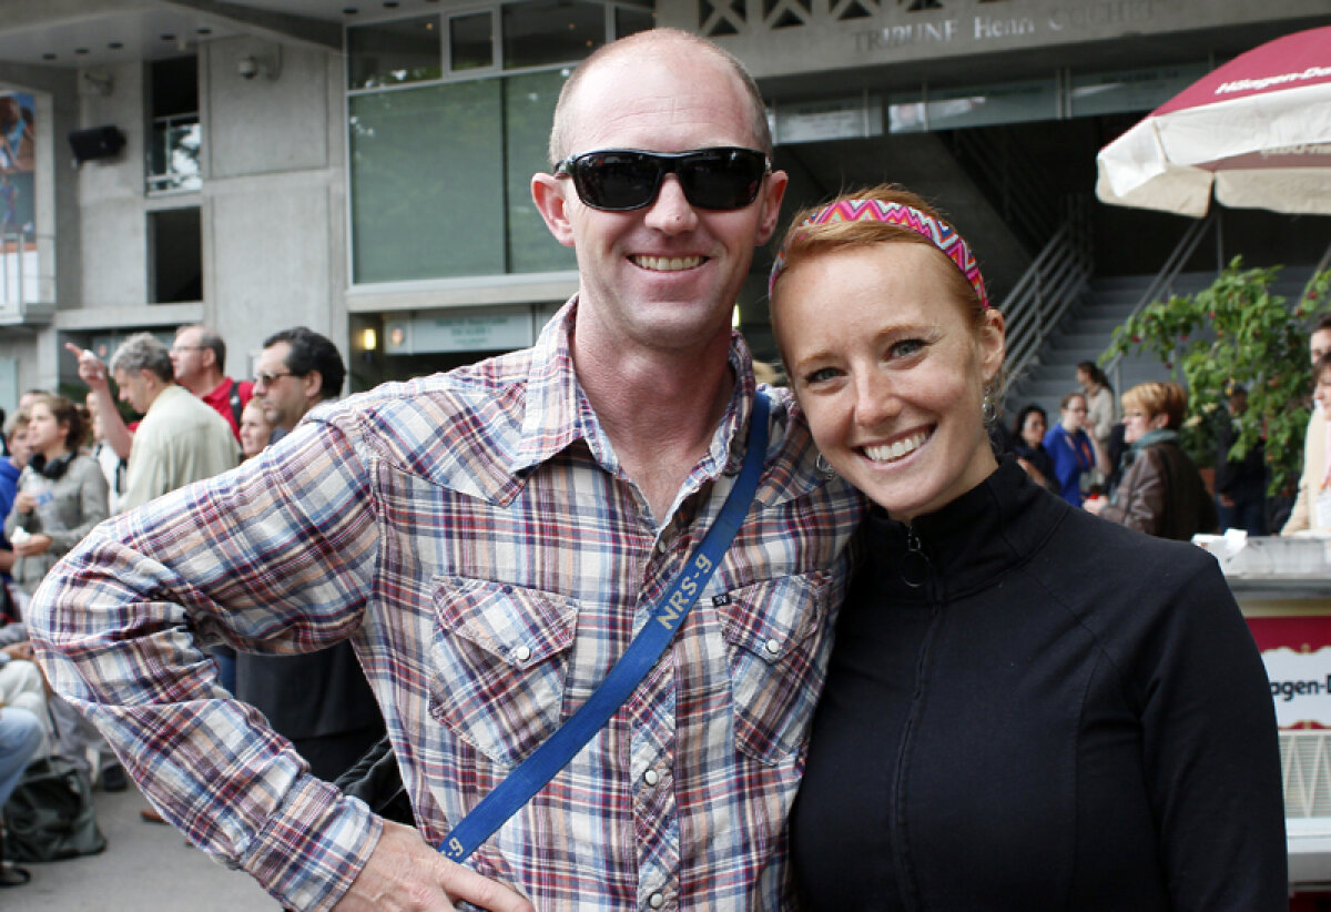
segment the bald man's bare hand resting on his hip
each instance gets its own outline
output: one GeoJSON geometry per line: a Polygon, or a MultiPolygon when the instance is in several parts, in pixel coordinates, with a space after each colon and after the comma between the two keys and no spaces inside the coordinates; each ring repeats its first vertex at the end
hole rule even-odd
{"type": "Polygon", "coordinates": [[[379,844],[334,912],[443,912],[465,900],[490,912],[535,912],[510,887],[454,864],[411,827],[385,823],[379,844]]]}

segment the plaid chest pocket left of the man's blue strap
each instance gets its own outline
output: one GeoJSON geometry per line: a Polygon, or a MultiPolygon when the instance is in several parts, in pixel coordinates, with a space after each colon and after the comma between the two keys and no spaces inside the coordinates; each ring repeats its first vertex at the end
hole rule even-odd
{"type": "Polygon", "coordinates": [[[514,767],[563,722],[578,603],[463,576],[435,576],[431,590],[430,715],[514,767]]]}

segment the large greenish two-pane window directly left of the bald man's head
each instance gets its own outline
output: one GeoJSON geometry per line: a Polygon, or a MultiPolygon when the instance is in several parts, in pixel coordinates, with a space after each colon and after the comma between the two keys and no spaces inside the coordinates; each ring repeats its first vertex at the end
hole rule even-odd
{"type": "Polygon", "coordinates": [[[355,282],[574,269],[531,202],[559,71],[350,99],[355,282]]]}

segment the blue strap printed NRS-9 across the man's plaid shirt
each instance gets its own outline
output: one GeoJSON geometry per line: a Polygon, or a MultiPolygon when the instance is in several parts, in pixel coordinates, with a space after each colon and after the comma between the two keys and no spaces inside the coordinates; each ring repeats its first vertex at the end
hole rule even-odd
{"type": "Polygon", "coordinates": [[[568,766],[568,762],[610,722],[615,711],[623,706],[634,688],[647,676],[656,659],[669,646],[675,631],[684,623],[684,616],[693,607],[712,571],[731,547],[735,534],[748,515],[759,477],[763,474],[763,458],[767,454],[768,399],[759,393],[753,402],[753,415],[749,419],[749,439],[744,453],[744,467],[740,469],[735,486],[731,487],[721,513],[707,530],[693,555],[675,576],[669,590],[652,606],[647,623],[634,642],[628,644],[619,662],[606,675],[606,680],[587,702],[559,727],[554,735],[518,764],[499,786],[486,795],[439,845],[445,857],[462,861],[490,839],[503,823],[522,808],[523,804],[544,788],[546,783],[568,766]]]}

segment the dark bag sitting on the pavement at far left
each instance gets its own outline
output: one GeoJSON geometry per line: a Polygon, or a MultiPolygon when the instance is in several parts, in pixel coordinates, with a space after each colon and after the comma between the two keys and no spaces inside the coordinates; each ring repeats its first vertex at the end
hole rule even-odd
{"type": "Polygon", "coordinates": [[[106,848],[88,774],[63,756],[33,760],[4,805],[5,857],[57,861],[106,848]]]}

